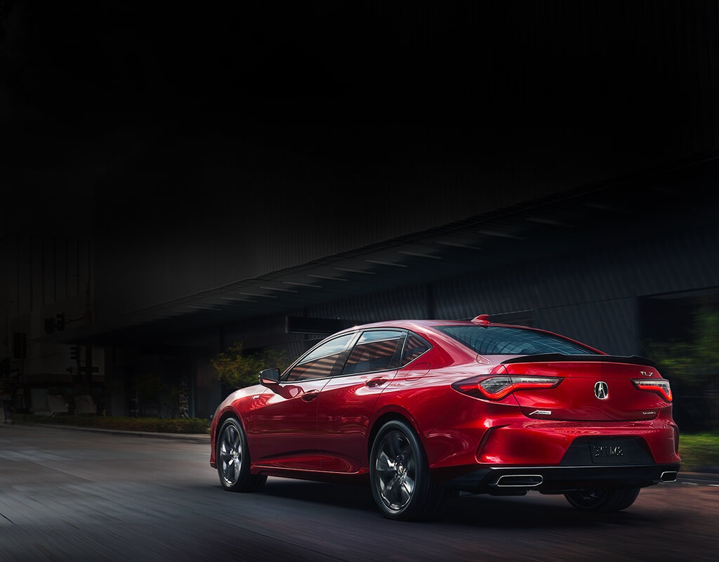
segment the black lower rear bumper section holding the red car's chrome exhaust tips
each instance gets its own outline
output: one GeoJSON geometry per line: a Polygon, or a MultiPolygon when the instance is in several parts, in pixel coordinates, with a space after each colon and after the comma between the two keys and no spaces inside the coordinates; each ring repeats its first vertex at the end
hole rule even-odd
{"type": "Polygon", "coordinates": [[[444,482],[449,489],[495,496],[607,488],[644,488],[674,481],[679,464],[487,467],[444,482]]]}

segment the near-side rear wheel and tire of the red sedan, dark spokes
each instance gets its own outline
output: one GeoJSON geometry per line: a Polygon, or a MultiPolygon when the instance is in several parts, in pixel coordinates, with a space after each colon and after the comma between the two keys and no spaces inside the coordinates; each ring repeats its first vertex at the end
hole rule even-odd
{"type": "Polygon", "coordinates": [[[444,491],[429,472],[421,441],[400,420],[385,423],[377,432],[370,452],[370,486],[377,507],[394,520],[430,519],[444,499],[444,491]]]}

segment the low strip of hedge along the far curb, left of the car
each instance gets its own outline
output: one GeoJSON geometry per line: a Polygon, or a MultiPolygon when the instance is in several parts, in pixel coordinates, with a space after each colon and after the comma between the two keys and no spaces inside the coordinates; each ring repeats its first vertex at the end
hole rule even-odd
{"type": "Polygon", "coordinates": [[[199,417],[170,419],[167,417],[122,416],[34,416],[15,414],[15,422],[42,423],[48,425],[74,425],[77,427],[101,427],[106,430],[152,431],[160,433],[209,433],[210,422],[199,417]]]}

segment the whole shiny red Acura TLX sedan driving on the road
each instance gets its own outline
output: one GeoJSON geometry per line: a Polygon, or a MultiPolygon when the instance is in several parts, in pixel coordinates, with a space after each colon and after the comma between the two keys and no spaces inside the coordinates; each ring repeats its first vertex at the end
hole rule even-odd
{"type": "Polygon", "coordinates": [[[676,480],[680,462],[672,391],[654,363],[487,315],[331,335],[228,396],[211,443],[225,489],[368,478],[398,520],[431,517],[459,492],[536,490],[618,511],[676,480]]]}

